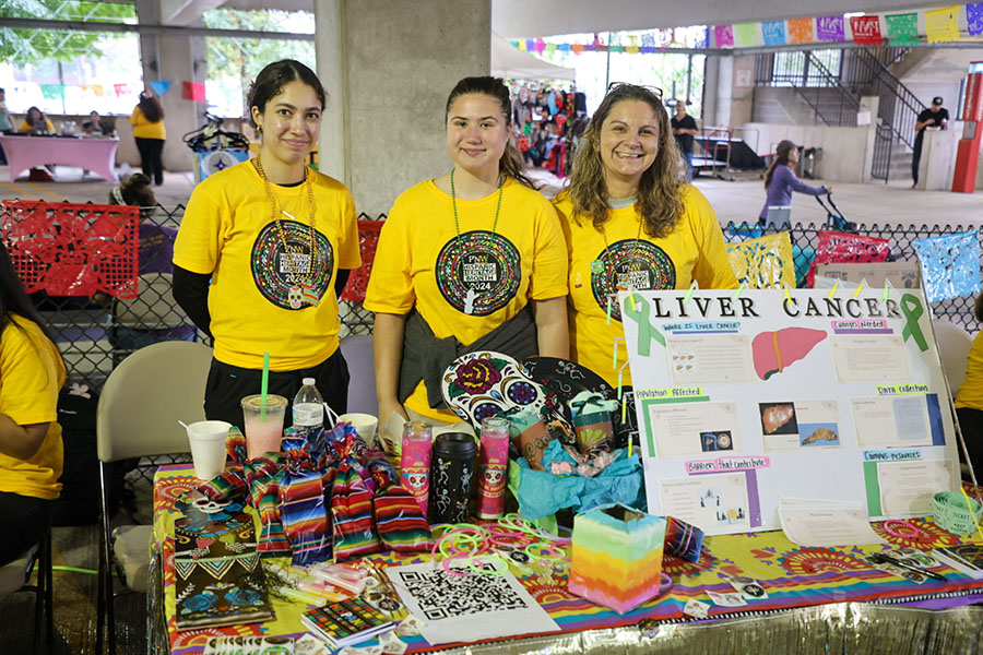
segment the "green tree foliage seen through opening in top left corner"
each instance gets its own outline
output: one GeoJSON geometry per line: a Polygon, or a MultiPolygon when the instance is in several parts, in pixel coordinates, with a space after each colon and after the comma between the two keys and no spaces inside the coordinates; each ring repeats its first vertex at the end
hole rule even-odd
{"type": "MultiPolygon", "coordinates": [[[[121,2],[85,2],[72,0],[3,0],[2,19],[44,19],[121,23],[135,20],[133,4],[121,2]]],[[[123,36],[123,33],[108,33],[123,36]]],[[[102,56],[97,41],[104,32],[71,29],[28,29],[0,27],[0,61],[27,66],[42,61],[72,61],[80,55],[102,56]]]]}

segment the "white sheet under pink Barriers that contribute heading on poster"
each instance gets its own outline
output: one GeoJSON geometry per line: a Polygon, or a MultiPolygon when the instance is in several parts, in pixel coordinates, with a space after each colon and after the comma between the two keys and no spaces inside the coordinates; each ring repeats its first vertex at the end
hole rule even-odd
{"type": "Polygon", "coordinates": [[[659,480],[662,512],[715,534],[749,529],[747,486],[744,473],[659,480]]]}

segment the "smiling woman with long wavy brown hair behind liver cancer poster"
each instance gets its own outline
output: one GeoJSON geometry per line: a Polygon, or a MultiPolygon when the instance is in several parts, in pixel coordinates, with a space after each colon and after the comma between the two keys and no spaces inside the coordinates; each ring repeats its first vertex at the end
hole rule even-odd
{"type": "MultiPolygon", "coordinates": [[[[737,287],[713,207],[686,181],[661,95],[613,84],[555,201],[570,257],[573,359],[612,386],[619,290],[685,289],[694,279],[701,289],[737,287]]],[[[626,356],[621,341],[618,367],[626,356]]],[[[631,384],[628,368],[623,384],[631,384]]]]}

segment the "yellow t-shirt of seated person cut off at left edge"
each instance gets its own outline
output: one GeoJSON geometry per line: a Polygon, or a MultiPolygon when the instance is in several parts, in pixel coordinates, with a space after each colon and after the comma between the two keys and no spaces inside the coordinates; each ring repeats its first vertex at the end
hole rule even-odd
{"type": "Polygon", "coordinates": [[[40,329],[17,314],[8,314],[0,335],[0,414],[19,426],[47,422],[40,449],[29,460],[0,453],[0,491],[54,500],[61,493],[63,449],[58,425],[58,392],[64,365],[40,329]]]}

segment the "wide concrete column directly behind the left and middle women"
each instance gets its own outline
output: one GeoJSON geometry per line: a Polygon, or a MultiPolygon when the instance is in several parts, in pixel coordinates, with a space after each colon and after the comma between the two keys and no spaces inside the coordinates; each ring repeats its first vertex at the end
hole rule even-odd
{"type": "Polygon", "coordinates": [[[324,169],[375,216],[450,168],[443,107],[458,80],[490,70],[490,0],[316,0],[315,11],[321,81],[344,98],[322,123],[324,169]]]}

